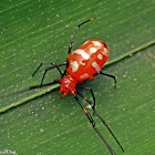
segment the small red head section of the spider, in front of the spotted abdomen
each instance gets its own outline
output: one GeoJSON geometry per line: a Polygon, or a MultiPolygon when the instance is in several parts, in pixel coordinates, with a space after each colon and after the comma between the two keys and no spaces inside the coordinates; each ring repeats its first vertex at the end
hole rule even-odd
{"type": "Polygon", "coordinates": [[[76,80],[74,80],[71,75],[66,75],[64,78],[62,78],[60,80],[60,92],[63,92],[63,95],[61,95],[61,97],[63,97],[64,95],[66,95],[69,93],[69,91],[71,92],[71,94],[75,94],[75,85],[76,85],[76,80]]]}

